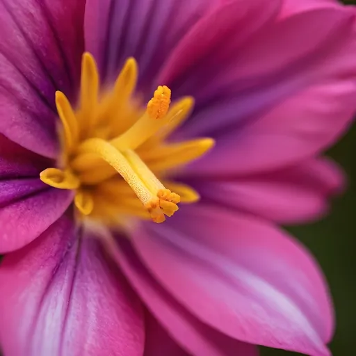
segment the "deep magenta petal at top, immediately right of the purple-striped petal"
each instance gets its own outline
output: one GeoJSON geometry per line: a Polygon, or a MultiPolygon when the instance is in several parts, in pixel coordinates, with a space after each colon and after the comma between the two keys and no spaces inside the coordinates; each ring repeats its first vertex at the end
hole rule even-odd
{"type": "Polygon", "coordinates": [[[239,65],[239,56],[234,52],[273,23],[280,3],[279,0],[226,1],[178,42],[161,70],[159,82],[171,86],[176,95],[193,95],[199,103],[200,92],[206,89],[204,84],[216,85],[219,74],[227,74],[230,61],[239,65]]]}

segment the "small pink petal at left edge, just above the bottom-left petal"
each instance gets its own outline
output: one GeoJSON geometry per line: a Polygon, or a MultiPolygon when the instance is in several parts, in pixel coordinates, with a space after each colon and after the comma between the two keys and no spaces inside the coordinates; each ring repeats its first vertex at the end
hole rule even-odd
{"type": "MultiPolygon", "coordinates": [[[[70,206],[72,191],[43,187],[40,179],[35,187],[23,188],[14,193],[15,199],[0,207],[0,254],[24,247],[40,236],[70,206]]],[[[15,183],[14,183],[15,184],[15,183]]],[[[14,186],[16,191],[19,183],[14,186]]]]}

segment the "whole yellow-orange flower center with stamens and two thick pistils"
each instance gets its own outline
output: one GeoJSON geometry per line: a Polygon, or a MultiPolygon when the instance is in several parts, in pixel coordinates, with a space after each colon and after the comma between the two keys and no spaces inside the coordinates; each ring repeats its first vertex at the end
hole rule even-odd
{"type": "Polygon", "coordinates": [[[49,186],[75,191],[81,216],[120,225],[127,216],[162,223],[199,195],[168,179],[169,172],[197,159],[213,146],[202,138],[167,143],[165,138],[193,108],[193,98],[170,105],[170,89],[159,86],[146,108],[133,95],[138,77],[129,58],[111,90],[100,90],[91,54],[83,54],[79,107],[74,110],[63,92],[56,92],[62,154],[58,168],[40,179],[49,186]]]}

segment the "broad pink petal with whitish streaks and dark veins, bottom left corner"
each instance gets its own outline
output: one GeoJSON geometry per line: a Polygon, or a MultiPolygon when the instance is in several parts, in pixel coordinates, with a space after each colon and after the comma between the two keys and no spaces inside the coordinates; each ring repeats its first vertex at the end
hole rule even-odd
{"type": "Polygon", "coordinates": [[[0,311],[8,356],[143,355],[138,298],[67,217],[3,259],[0,311]]]}

